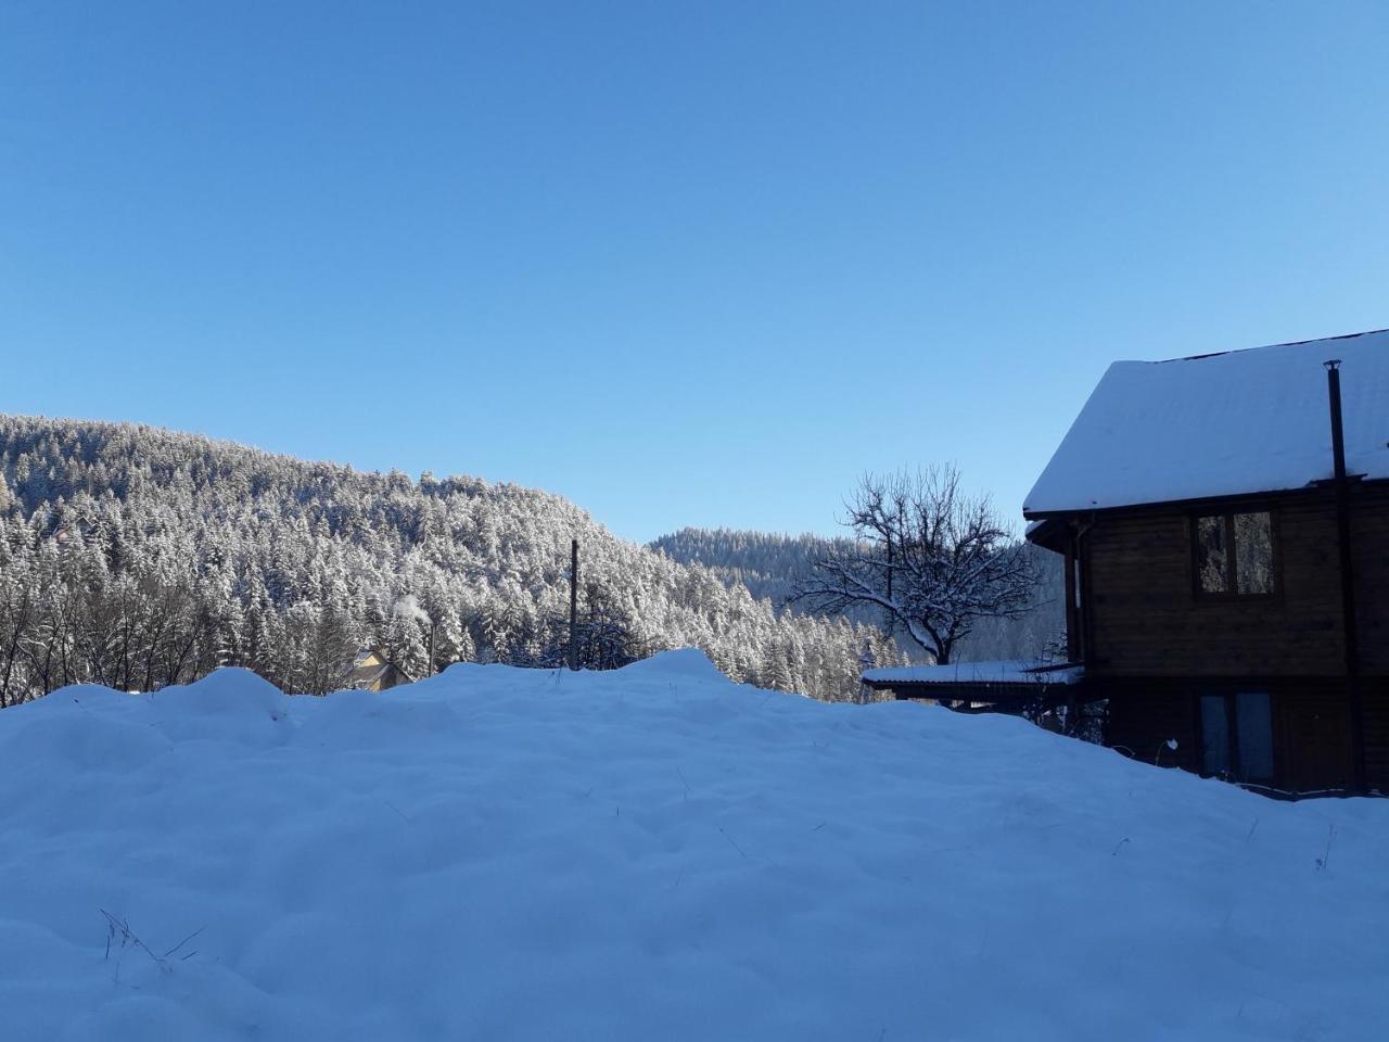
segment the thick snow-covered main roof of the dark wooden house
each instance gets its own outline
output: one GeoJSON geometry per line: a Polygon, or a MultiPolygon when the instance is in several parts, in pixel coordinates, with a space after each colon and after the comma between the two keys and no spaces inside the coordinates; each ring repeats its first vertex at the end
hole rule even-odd
{"type": "Polygon", "coordinates": [[[1389,478],[1389,331],[1117,361],[1042,471],[1028,517],[1282,492],[1332,477],[1322,363],[1340,358],[1346,468],[1389,478]]]}

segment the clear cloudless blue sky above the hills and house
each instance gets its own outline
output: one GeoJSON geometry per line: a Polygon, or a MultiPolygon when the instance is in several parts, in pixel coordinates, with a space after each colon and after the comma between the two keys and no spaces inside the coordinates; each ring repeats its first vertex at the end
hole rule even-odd
{"type": "Polygon", "coordinates": [[[833,531],[1389,325],[1389,6],[0,4],[0,410],[833,531]]]}

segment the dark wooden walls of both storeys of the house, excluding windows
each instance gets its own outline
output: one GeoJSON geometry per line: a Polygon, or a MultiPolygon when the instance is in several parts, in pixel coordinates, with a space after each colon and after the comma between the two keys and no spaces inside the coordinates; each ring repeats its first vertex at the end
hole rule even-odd
{"type": "MultiPolygon", "coordinates": [[[[1350,506],[1365,781],[1389,792],[1389,486],[1354,486],[1350,506]]],[[[1108,702],[1107,745],[1200,771],[1197,699],[1267,692],[1275,788],[1351,786],[1351,684],[1331,489],[1263,503],[1115,511],[1075,524],[1088,525],[1079,554],[1085,697],[1108,702]],[[1275,592],[1197,595],[1193,520],[1265,508],[1275,592]]]]}

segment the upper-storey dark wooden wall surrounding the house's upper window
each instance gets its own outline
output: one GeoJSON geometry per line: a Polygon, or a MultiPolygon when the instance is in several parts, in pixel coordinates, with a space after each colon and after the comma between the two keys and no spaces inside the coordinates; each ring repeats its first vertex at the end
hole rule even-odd
{"type": "MultiPolygon", "coordinates": [[[[1268,597],[1195,593],[1185,510],[1100,515],[1082,550],[1090,674],[1340,674],[1335,502],[1308,493],[1272,514],[1279,578],[1268,597]]],[[[1389,674],[1389,490],[1357,489],[1353,518],[1363,670],[1389,674]]]]}

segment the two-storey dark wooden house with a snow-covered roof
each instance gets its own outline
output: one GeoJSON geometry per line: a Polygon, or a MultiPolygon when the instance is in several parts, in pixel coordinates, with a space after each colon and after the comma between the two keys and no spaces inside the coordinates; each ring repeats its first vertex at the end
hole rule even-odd
{"type": "Polygon", "coordinates": [[[1108,745],[1389,792],[1389,331],[1113,364],[1024,515],[1108,745]]]}

